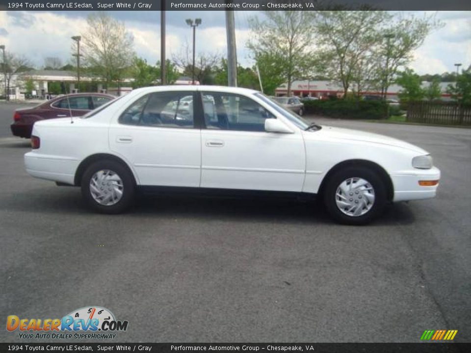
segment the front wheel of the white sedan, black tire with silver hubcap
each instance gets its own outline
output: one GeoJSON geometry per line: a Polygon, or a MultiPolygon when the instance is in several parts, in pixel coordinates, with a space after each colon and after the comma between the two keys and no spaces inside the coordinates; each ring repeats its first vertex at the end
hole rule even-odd
{"type": "Polygon", "coordinates": [[[383,212],[386,195],[377,173],[366,167],[346,167],[327,180],[324,204],[335,221],[365,225],[383,212]]]}

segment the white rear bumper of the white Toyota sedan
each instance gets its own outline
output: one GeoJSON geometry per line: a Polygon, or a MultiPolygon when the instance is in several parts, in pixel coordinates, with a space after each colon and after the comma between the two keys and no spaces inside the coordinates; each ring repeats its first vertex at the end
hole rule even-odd
{"type": "Polygon", "coordinates": [[[74,185],[78,160],[55,155],[39,154],[34,151],[25,154],[26,172],[41,179],[74,185]]]}

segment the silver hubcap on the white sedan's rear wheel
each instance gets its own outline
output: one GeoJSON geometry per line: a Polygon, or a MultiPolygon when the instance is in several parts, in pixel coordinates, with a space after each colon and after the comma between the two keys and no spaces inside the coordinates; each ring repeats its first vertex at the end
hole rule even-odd
{"type": "Polygon", "coordinates": [[[90,179],[90,194],[104,206],[114,205],[123,197],[123,180],[113,171],[98,171],[90,179]]]}

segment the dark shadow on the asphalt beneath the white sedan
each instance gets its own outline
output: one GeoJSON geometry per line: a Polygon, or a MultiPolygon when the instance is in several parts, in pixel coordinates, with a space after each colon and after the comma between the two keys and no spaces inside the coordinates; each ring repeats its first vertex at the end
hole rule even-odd
{"type": "MultiPolygon", "coordinates": [[[[100,215],[87,209],[77,187],[33,189],[1,198],[0,209],[60,214],[78,217],[116,217],[100,215]]],[[[194,196],[139,195],[135,205],[118,217],[130,218],[194,218],[240,222],[280,222],[293,224],[335,224],[319,202],[279,198],[201,198],[194,196]]],[[[390,204],[373,222],[375,226],[407,225],[415,221],[413,208],[405,203],[390,204]]],[[[348,227],[348,226],[345,226],[348,227]]]]}

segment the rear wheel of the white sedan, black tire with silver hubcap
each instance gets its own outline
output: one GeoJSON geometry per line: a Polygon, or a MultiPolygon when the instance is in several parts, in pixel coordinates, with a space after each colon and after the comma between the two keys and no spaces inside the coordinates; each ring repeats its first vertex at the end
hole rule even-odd
{"type": "Polygon", "coordinates": [[[131,173],[113,160],[92,163],[83,173],[80,184],[84,201],[95,212],[121,213],[134,201],[135,185],[131,173]]]}

